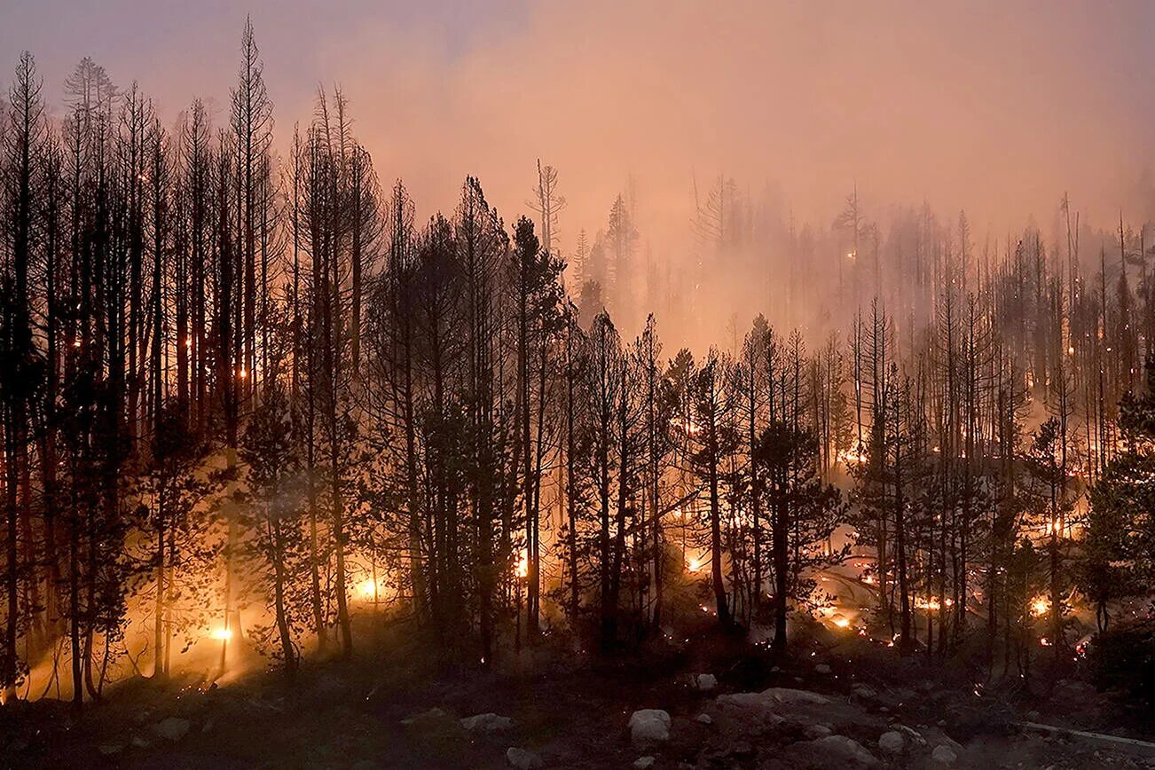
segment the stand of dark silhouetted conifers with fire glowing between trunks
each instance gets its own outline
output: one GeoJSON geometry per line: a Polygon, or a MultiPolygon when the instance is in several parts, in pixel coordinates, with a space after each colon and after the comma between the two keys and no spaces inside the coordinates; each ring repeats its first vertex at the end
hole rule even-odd
{"type": "MultiPolygon", "coordinates": [[[[781,648],[851,553],[899,651],[982,635],[1026,673],[1040,622],[1070,659],[1075,597],[1105,626],[1150,590],[1155,276],[1122,225],[1088,271],[1076,223],[979,254],[927,209],[884,244],[855,194],[822,239],[778,233],[837,264],[768,277],[842,308],[812,349],[758,315],[671,357],[650,312],[693,317],[694,277],[641,253],[628,194],[568,267],[550,166],[536,224],[474,178],[419,223],[340,91],[277,151],[251,27],[219,125],[166,126],[88,59],[59,120],[42,89],[24,54],[0,122],[9,697],[49,661],[79,707],[209,629],[223,670],[243,613],[292,675],[383,600],[453,664],[546,625],[612,653],[698,584],[781,648]]],[[[693,270],[755,259],[755,222],[718,180],[693,270]]]]}

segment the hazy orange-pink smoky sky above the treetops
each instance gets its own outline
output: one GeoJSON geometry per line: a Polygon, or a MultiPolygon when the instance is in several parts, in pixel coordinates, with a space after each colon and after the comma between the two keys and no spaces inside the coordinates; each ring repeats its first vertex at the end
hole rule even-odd
{"type": "Polygon", "coordinates": [[[720,172],[824,223],[855,180],[879,216],[926,199],[1018,226],[1070,189],[1109,220],[1139,215],[1153,155],[1143,0],[0,0],[0,61],[31,50],[59,102],[91,55],[174,115],[226,102],[246,13],[282,139],[340,83],[382,181],[403,177],[423,215],[474,173],[512,219],[541,157],[571,201],[566,240],[631,173],[655,225],[720,172]]]}

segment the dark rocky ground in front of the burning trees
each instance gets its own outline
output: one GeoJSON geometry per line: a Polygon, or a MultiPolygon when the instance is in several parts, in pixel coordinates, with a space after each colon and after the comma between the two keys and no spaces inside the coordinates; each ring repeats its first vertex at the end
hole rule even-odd
{"type": "Polygon", "coordinates": [[[545,768],[1155,768],[1133,748],[1016,726],[1155,738],[1149,716],[1076,679],[996,691],[961,667],[820,634],[784,657],[709,633],[612,663],[562,648],[545,641],[506,651],[493,671],[434,673],[420,645],[398,645],[307,665],[292,687],[261,671],[221,687],[132,679],[80,719],[51,698],[0,709],[0,764],[495,769],[515,767],[515,747],[530,753],[523,767],[545,768]],[[716,676],[710,691],[699,673],[716,676]],[[670,715],[668,740],[632,742],[639,709],[670,715]],[[462,726],[479,713],[512,724],[462,726]]]}

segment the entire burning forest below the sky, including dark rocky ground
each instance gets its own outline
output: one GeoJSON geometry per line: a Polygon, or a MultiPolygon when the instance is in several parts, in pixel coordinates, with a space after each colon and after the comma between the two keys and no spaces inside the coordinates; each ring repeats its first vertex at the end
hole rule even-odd
{"type": "Polygon", "coordinates": [[[0,37],[3,767],[1155,762],[1142,181],[425,201],[258,31],[176,109],[0,37]]]}

